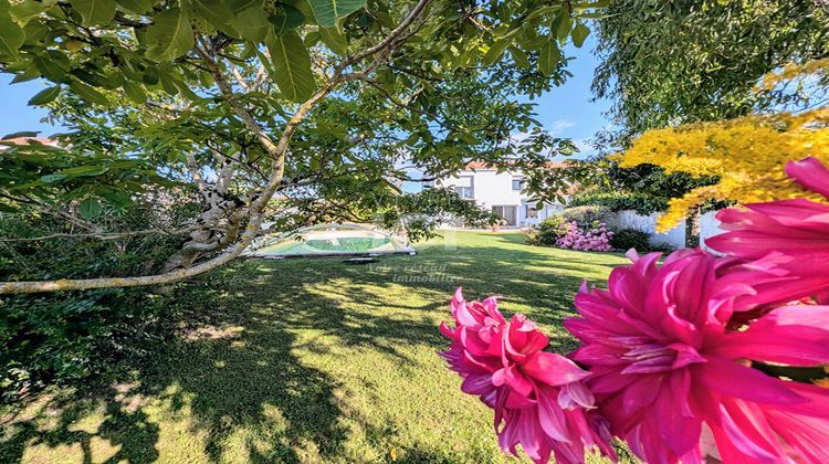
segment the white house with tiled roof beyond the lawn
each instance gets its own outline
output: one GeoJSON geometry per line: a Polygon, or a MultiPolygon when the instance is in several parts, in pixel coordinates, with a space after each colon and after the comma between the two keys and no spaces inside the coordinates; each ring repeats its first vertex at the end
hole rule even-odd
{"type": "MultiPolygon", "coordinates": [[[[564,162],[550,161],[550,169],[563,169],[564,162]]],[[[491,209],[508,226],[531,226],[564,209],[562,203],[544,203],[537,209],[538,200],[523,193],[524,175],[521,170],[497,172],[494,167],[480,161],[469,162],[457,177],[438,179],[434,187],[454,189],[461,198],[478,205],[491,209]]],[[[460,225],[460,224],[455,224],[460,225]]]]}

